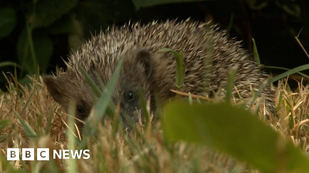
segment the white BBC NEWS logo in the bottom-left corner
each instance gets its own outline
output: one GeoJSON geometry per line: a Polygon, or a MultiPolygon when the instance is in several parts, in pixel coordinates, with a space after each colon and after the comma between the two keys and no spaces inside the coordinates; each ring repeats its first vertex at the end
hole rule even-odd
{"type": "MultiPolygon", "coordinates": [[[[53,150],[53,159],[89,159],[89,150],[53,150]],[[83,156],[83,157],[82,157],[83,156]]],[[[22,160],[34,160],[34,148],[22,148],[22,160]]],[[[7,160],[19,160],[19,148],[7,148],[7,160]]],[[[49,148],[37,148],[36,160],[49,160],[49,148]]]]}

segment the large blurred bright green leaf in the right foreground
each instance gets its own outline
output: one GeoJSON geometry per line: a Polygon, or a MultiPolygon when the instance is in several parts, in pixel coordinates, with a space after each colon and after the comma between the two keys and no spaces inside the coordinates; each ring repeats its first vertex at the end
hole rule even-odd
{"type": "Polygon", "coordinates": [[[309,160],[249,111],[231,104],[165,106],[163,131],[170,141],[207,144],[263,172],[307,172],[309,160]]]}

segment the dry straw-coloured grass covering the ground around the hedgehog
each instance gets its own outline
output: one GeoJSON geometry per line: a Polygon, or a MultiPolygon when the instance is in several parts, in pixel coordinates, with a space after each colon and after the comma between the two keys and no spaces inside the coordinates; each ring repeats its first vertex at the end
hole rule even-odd
{"type": "MultiPolygon", "coordinates": [[[[41,77],[32,78],[32,81],[30,87],[19,86],[18,92],[11,83],[8,85],[8,91],[0,96],[1,120],[11,120],[0,134],[2,149],[0,171],[6,172],[16,168],[26,172],[66,172],[67,160],[6,161],[6,148],[67,148],[65,134],[67,115],[48,94],[41,77]],[[27,105],[31,93],[33,96],[27,105]],[[21,114],[22,111],[23,114],[21,114]],[[29,123],[36,132],[36,137],[28,138],[25,135],[15,112],[29,123]],[[51,122],[50,128],[47,129],[49,122],[51,122]]],[[[298,89],[291,91],[289,86],[281,81],[276,95],[277,120],[267,121],[262,118],[262,121],[298,145],[307,154],[309,149],[308,86],[305,87],[299,83],[298,89]]],[[[263,112],[263,108],[260,110],[263,112]]],[[[129,135],[122,130],[121,126],[115,133],[112,123],[112,119],[106,119],[104,126],[98,123],[99,135],[87,142],[90,159],[76,160],[79,172],[257,172],[246,163],[235,161],[204,146],[182,142],[167,143],[159,121],[152,123],[149,128],[143,128],[139,123],[138,131],[129,135]]],[[[72,132],[67,131],[67,133],[72,132]]],[[[75,135],[78,136],[78,134],[75,135]]]]}

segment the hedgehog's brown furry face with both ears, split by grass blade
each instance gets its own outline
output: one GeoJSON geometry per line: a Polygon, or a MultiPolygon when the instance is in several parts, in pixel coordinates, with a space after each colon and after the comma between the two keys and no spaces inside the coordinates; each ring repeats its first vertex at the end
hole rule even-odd
{"type": "MultiPolygon", "coordinates": [[[[94,72],[96,73],[96,72],[94,72]]],[[[125,55],[123,68],[113,93],[113,101],[121,106],[121,117],[126,123],[137,122],[141,110],[139,91],[145,99],[151,96],[152,59],[149,51],[138,50],[125,55]],[[132,58],[133,57],[133,58],[132,58]]],[[[106,77],[106,76],[105,76],[106,77]]],[[[105,83],[108,78],[103,78],[105,83]]],[[[76,117],[84,120],[93,106],[93,92],[83,76],[68,69],[57,76],[44,78],[49,93],[64,110],[70,100],[76,102],[76,117]]]]}

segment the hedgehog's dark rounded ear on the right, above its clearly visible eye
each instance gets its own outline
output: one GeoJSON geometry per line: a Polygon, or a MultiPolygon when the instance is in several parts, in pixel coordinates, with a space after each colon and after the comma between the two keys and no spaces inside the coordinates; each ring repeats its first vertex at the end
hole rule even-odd
{"type": "Polygon", "coordinates": [[[150,77],[152,74],[152,58],[150,52],[146,49],[138,50],[135,58],[144,65],[146,76],[150,77]]]}

